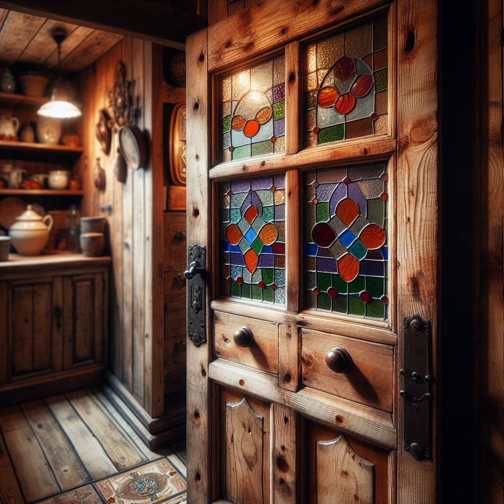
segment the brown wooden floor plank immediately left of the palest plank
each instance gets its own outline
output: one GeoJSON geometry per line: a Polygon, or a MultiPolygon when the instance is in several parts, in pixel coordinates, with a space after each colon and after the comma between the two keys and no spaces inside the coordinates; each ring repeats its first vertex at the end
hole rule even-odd
{"type": "Polygon", "coordinates": [[[70,440],[45,403],[33,401],[24,403],[21,407],[61,489],[66,490],[90,481],[70,440]]]}

